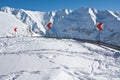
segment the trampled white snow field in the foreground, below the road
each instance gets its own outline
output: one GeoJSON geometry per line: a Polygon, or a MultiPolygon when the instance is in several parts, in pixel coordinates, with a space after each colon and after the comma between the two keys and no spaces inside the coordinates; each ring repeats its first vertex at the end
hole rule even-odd
{"type": "Polygon", "coordinates": [[[0,38],[0,80],[120,80],[116,52],[72,39],[0,38]]]}

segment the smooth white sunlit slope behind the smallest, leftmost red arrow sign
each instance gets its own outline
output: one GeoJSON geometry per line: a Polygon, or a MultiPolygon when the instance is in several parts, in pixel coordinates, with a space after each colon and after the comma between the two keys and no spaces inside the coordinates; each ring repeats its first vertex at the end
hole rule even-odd
{"type": "Polygon", "coordinates": [[[29,36],[28,26],[11,14],[0,11],[0,37],[29,36]],[[14,31],[17,28],[17,32],[14,31]]]}

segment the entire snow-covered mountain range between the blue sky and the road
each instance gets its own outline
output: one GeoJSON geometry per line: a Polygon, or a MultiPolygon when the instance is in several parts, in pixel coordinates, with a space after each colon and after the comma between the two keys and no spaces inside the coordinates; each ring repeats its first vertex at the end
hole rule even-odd
{"type": "MultiPolygon", "coordinates": [[[[117,11],[80,8],[40,12],[3,7],[0,15],[0,28],[2,28],[0,33],[4,35],[11,35],[11,33],[14,35],[15,33],[11,30],[13,26],[16,26],[19,28],[18,30],[21,30],[18,32],[19,36],[25,33],[24,36],[37,35],[97,40],[99,31],[96,30],[96,23],[103,22],[104,30],[100,34],[101,41],[120,46],[120,12],[117,11]],[[7,15],[7,17],[2,17],[3,15],[7,15]],[[13,20],[9,19],[9,16],[13,20]],[[52,23],[51,29],[46,27],[48,22],[52,23]],[[8,31],[4,30],[3,27],[8,31]]],[[[2,34],[0,36],[4,36],[2,34]]]]}

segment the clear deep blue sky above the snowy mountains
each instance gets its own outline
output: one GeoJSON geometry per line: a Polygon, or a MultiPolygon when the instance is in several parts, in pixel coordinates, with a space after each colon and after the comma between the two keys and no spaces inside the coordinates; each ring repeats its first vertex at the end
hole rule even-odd
{"type": "Polygon", "coordinates": [[[120,11],[120,0],[0,0],[0,7],[22,8],[34,11],[78,9],[91,7],[99,10],[120,11]]]}

